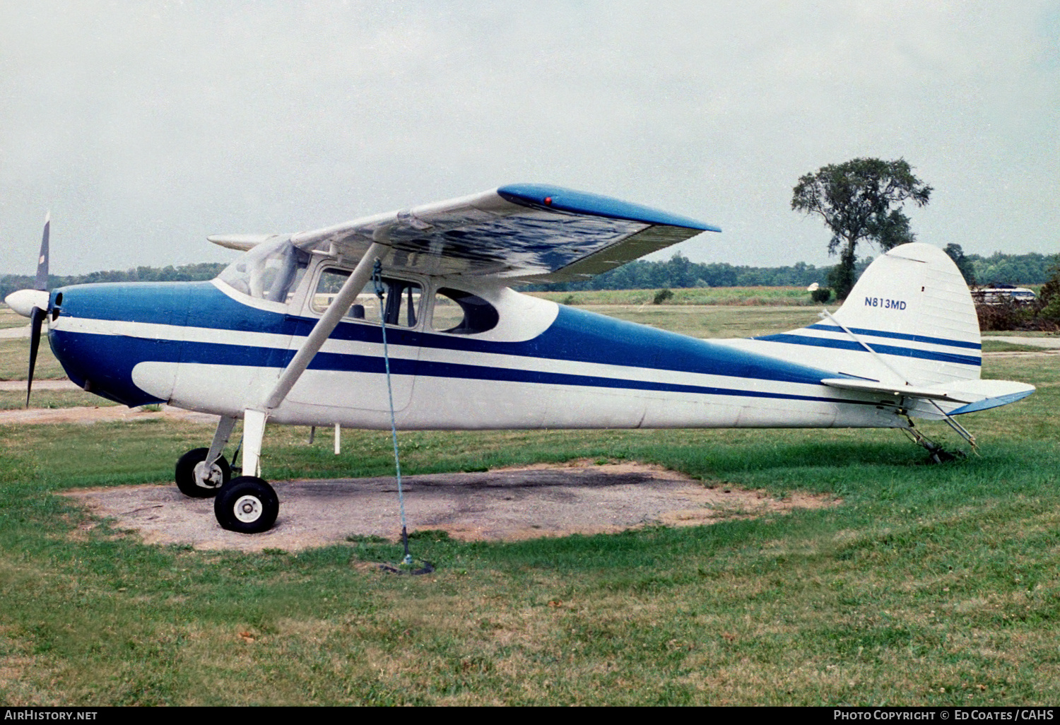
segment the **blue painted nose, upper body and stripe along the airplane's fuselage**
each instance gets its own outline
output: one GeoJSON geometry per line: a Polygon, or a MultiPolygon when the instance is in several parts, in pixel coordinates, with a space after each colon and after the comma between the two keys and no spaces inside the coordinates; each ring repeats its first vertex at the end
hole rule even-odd
{"type": "MultiPolygon", "coordinates": [[[[222,333],[233,331],[267,334],[289,337],[293,347],[299,344],[300,338],[307,335],[317,321],[315,318],[284,315],[241,304],[210,283],[84,285],[66,288],[65,291],[61,315],[67,318],[143,322],[222,333]]],[[[224,339],[223,335],[218,337],[224,339]]],[[[387,337],[391,346],[423,350],[424,357],[430,357],[429,351],[452,351],[452,354],[466,360],[453,362],[417,359],[414,356],[395,357],[391,359],[391,369],[396,375],[869,404],[827,394],[819,396],[796,394],[794,391],[775,392],[776,384],[816,387],[825,377],[845,376],[834,371],[797,365],[564,306],[559,307],[555,320],[545,332],[524,341],[490,341],[400,328],[388,330],[387,337]],[[491,355],[522,358],[524,362],[506,367],[485,359],[485,356],[491,355]],[[476,364],[477,357],[481,364],[476,364]],[[536,367],[548,367],[549,362],[555,361],[566,366],[606,366],[615,372],[607,376],[591,374],[596,372],[591,370],[587,370],[589,374],[585,374],[526,369],[535,367],[533,360],[541,361],[536,367]],[[638,369],[652,371],[653,374],[637,372],[638,369]],[[641,376],[658,378],[660,372],[737,378],[746,381],[745,387],[750,389],[638,379],[641,376]],[[774,391],[756,389],[764,387],[759,382],[773,384],[774,391]]],[[[342,322],[335,329],[331,339],[338,342],[381,344],[382,333],[375,324],[342,322]]],[[[63,360],[72,379],[78,383],[87,379],[101,394],[127,405],[151,402],[151,397],[132,383],[132,368],[141,361],[276,369],[285,367],[294,356],[294,350],[276,342],[255,347],[220,341],[72,333],[63,332],[61,329],[52,331],[51,341],[56,356],[63,360]]],[[[834,346],[829,340],[795,338],[793,341],[834,346]]],[[[908,353],[903,351],[903,354],[908,353]]],[[[954,358],[955,356],[937,357],[948,360],[954,358]]],[[[314,357],[310,368],[382,374],[384,360],[379,355],[321,351],[314,357]]]]}

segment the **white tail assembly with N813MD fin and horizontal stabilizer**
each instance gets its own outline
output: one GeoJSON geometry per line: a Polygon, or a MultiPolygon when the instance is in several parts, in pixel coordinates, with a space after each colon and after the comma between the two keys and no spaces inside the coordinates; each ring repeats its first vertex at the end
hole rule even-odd
{"type": "Polygon", "coordinates": [[[972,296],[949,255],[926,244],[895,247],[876,260],[843,306],[816,324],[725,343],[835,371],[838,376],[822,384],[894,396],[915,418],[951,424],[949,415],[1008,405],[1035,391],[1024,383],[979,379],[972,296]]]}

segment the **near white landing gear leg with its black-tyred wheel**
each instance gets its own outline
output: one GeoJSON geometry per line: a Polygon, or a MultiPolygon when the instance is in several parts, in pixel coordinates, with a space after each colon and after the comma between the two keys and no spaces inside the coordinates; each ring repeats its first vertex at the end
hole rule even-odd
{"type": "MultiPolygon", "coordinates": [[[[243,413],[243,471],[248,475],[233,478],[217,492],[213,513],[223,529],[261,533],[276,524],[280,499],[272,487],[259,478],[267,418],[267,413],[261,410],[245,410],[243,413]]],[[[218,426],[218,432],[219,429],[218,426]]]]}

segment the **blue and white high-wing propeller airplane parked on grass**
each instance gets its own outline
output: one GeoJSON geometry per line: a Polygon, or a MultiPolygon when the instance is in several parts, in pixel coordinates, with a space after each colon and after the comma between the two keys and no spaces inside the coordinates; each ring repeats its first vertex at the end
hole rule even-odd
{"type": "MultiPolygon", "coordinates": [[[[34,339],[47,321],[52,351],[85,390],[219,414],[210,446],[177,462],[176,482],[215,496],[220,526],[246,533],[269,529],[279,512],[261,478],[266,423],[889,427],[937,458],[913,419],[944,420],[974,445],[955,415],[1034,392],[979,379],[968,287],[925,244],[880,257],[819,323],[753,339],[693,339],[512,289],[585,279],[705,231],[720,230],[514,184],[316,231],[211,236],[245,253],[210,282],[49,294],[38,273],[38,289],[6,301],[31,317],[34,339]],[[240,419],[244,475],[232,478],[223,453],[240,419]]],[[[47,236],[46,226],[43,265],[47,236]]]]}

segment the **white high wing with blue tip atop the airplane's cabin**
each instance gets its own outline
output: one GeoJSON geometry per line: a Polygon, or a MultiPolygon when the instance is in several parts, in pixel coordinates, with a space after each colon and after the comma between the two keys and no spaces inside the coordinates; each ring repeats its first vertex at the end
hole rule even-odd
{"type": "MultiPolygon", "coordinates": [[[[512,184],[367,216],[290,236],[295,246],[351,260],[373,243],[391,270],[561,282],[614,269],[704,231],[702,222],[606,196],[544,184],[512,184]]],[[[269,235],[215,235],[246,249],[269,235]]]]}

